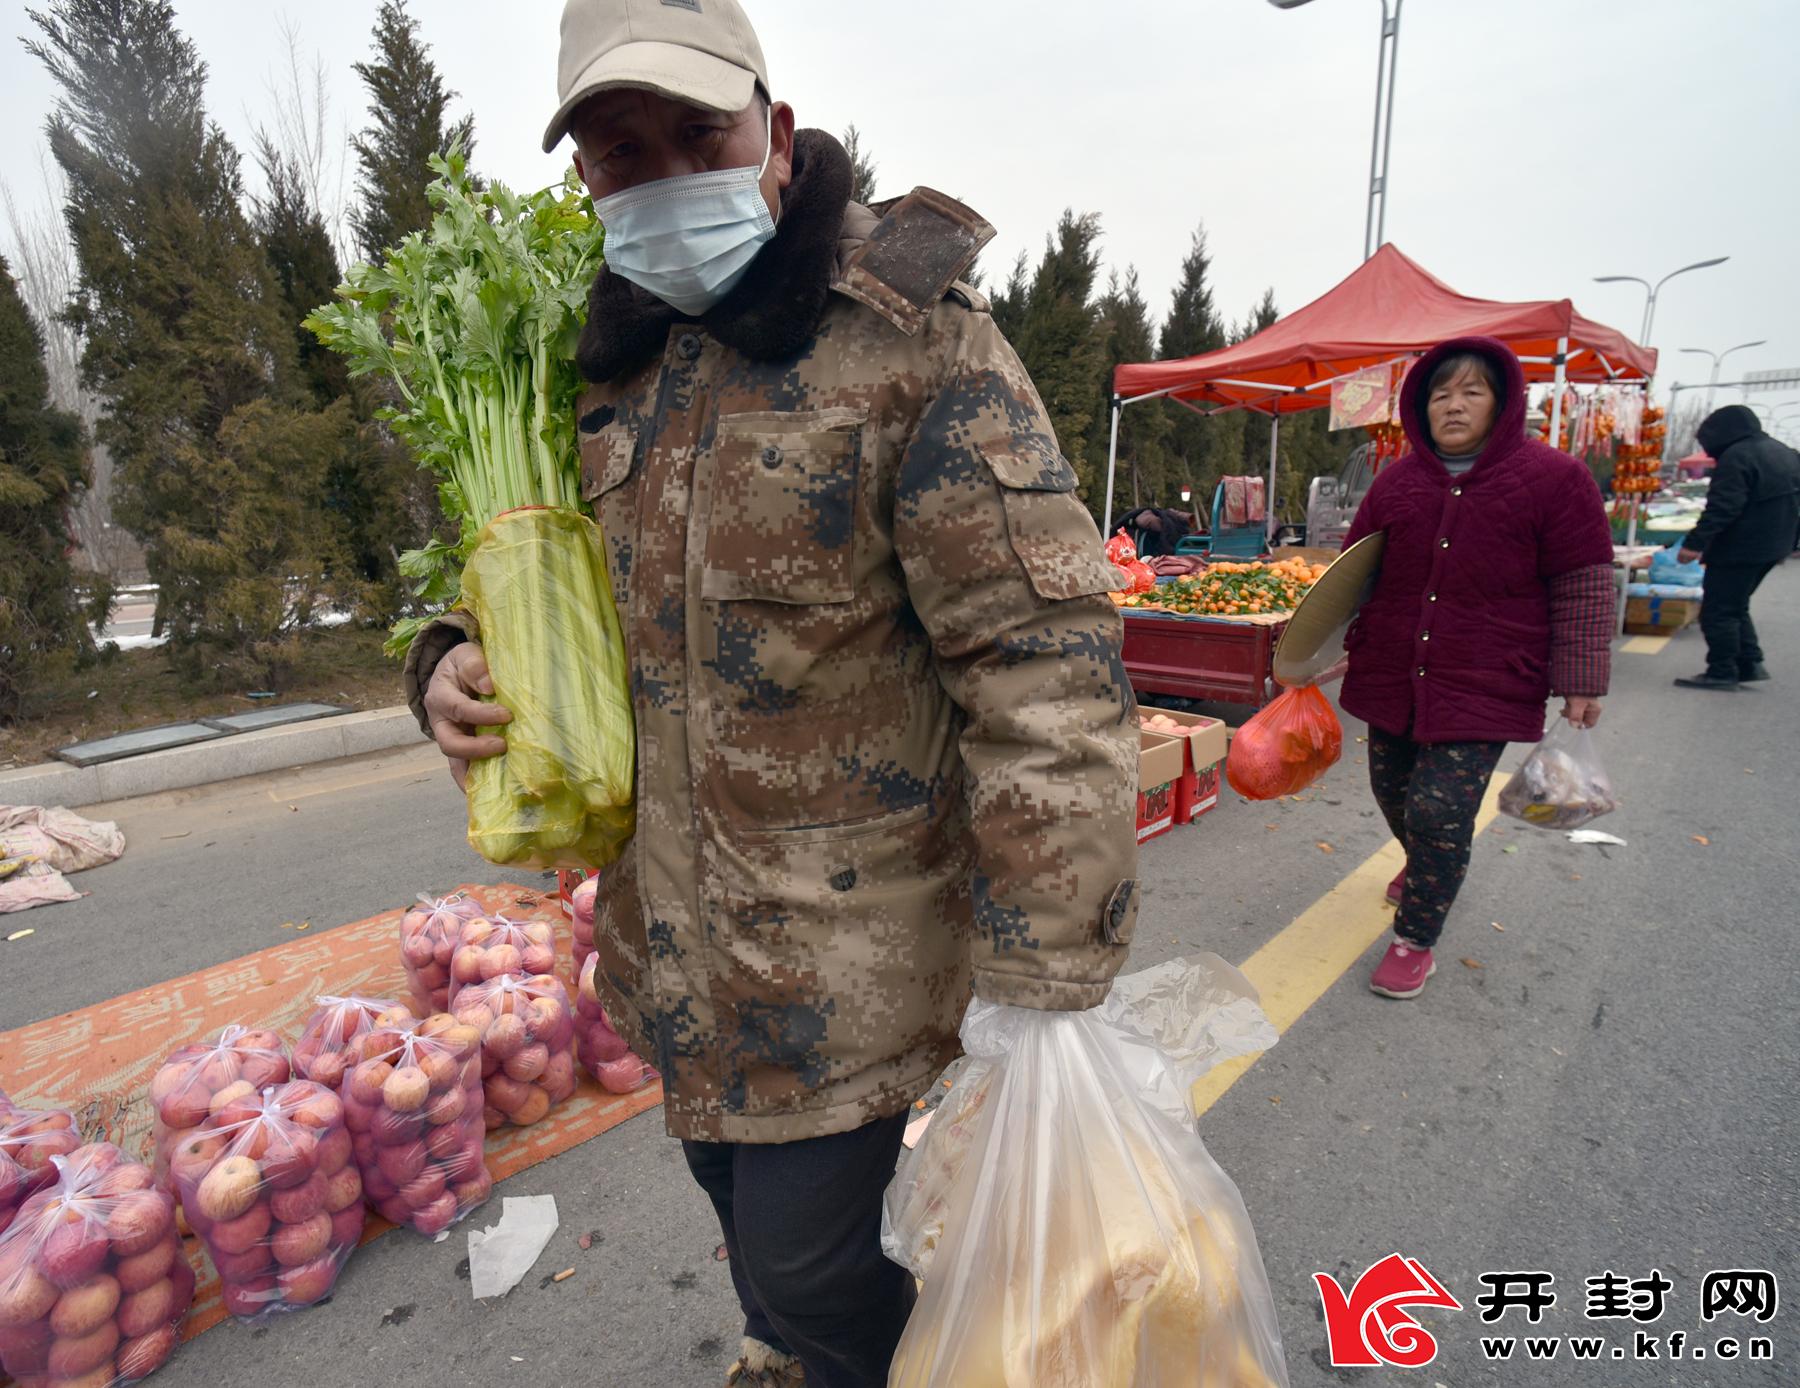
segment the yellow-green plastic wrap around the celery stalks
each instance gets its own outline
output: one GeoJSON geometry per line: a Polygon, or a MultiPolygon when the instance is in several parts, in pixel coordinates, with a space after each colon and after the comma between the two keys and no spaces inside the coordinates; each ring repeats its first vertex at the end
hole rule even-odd
{"type": "Polygon", "coordinates": [[[625,632],[599,527],[533,506],[495,517],[463,569],[506,756],[468,771],[468,841],[509,868],[605,868],[637,825],[625,632]]]}

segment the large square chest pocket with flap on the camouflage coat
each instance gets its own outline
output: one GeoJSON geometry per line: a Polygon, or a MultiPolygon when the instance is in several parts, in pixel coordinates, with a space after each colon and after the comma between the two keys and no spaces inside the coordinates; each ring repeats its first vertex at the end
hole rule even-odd
{"type": "Polygon", "coordinates": [[[702,598],[842,603],[855,596],[866,419],[855,409],[718,418],[702,598]]]}

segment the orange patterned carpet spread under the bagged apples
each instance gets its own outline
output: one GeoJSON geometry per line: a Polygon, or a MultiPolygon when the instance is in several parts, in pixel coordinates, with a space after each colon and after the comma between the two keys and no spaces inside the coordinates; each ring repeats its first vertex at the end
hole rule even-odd
{"type": "MultiPolygon", "coordinates": [[[[563,983],[571,981],[569,929],[554,895],[518,886],[468,886],[464,891],[488,911],[515,920],[558,922],[558,972],[563,983]]],[[[319,994],[405,997],[400,916],[394,909],[329,931],[313,927],[241,960],[0,1032],[0,1089],[22,1107],[72,1109],[86,1138],[117,1143],[148,1161],[149,1078],[162,1057],[229,1023],[272,1026],[293,1044],[319,994]]],[[[517,1176],[661,1102],[659,1084],[635,1095],[608,1095],[583,1075],[574,1096],[544,1122],[490,1136],[488,1170],[495,1181],[517,1176]]],[[[470,1219],[479,1221],[481,1213],[470,1219]]],[[[371,1212],[364,1242],[391,1228],[371,1212]]],[[[200,1289],[184,1338],[225,1320],[218,1278],[193,1240],[189,1257],[200,1273],[200,1289]]]]}

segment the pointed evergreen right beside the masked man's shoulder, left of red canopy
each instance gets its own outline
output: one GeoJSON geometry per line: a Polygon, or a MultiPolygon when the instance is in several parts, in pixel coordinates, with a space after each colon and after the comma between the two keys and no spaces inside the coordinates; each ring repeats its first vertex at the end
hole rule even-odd
{"type": "MultiPolygon", "coordinates": [[[[1094,383],[1105,367],[1105,333],[1094,304],[1100,275],[1100,218],[1066,211],[1046,239],[1031,275],[1017,333],[1010,333],[1057,430],[1062,455],[1075,466],[1089,509],[1105,500],[1105,479],[1089,454],[1096,419],[1094,383]]],[[[1017,283],[1019,272],[1013,275],[1017,283]]],[[[1008,295],[1013,290],[1008,283],[1008,295]]]]}

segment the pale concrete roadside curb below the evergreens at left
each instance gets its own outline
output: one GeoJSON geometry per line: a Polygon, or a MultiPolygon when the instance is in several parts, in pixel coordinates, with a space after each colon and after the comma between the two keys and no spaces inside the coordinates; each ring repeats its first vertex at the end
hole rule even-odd
{"type": "Polygon", "coordinates": [[[385,753],[421,740],[412,709],[367,709],[292,727],[236,733],[191,747],[171,747],[166,753],[126,756],[97,767],[45,762],[36,767],[0,771],[0,805],[79,808],[110,799],[155,796],[160,790],[187,790],[313,762],[385,753]]]}

